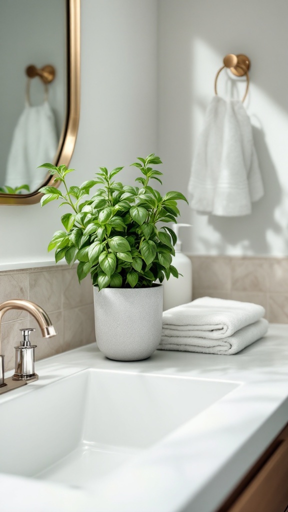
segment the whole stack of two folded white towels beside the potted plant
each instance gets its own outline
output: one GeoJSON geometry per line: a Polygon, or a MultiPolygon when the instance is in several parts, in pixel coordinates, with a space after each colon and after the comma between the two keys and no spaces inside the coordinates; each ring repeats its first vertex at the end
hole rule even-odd
{"type": "Polygon", "coordinates": [[[236,354],[266,334],[262,306],[201,297],[163,312],[159,350],[236,354]]]}

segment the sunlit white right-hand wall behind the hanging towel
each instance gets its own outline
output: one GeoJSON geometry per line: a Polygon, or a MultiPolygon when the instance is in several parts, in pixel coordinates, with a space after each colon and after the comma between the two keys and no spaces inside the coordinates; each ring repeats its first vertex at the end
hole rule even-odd
{"type": "MultiPolygon", "coordinates": [[[[224,55],[251,59],[246,109],[254,126],[265,196],[250,216],[221,218],[182,207],[194,254],[288,254],[288,2],[159,0],[159,155],[165,186],[187,192],[203,116],[224,55]]],[[[225,94],[224,72],[218,91],[225,94]]],[[[239,86],[240,96],[245,84],[239,86]]]]}

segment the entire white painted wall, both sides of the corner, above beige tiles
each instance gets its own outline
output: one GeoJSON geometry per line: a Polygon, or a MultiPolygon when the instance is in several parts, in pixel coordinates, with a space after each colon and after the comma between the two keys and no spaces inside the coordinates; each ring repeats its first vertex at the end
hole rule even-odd
{"type": "MultiPolygon", "coordinates": [[[[216,71],[225,54],[246,53],[251,88],[245,105],[265,196],[251,216],[236,219],[200,216],[181,205],[181,220],[193,224],[183,249],[286,255],[287,19],[286,0],[82,0],[81,114],[70,183],[94,176],[99,165],[128,165],[155,151],[164,162],[164,188],[185,194],[216,71]]],[[[128,167],[122,180],[132,182],[134,173],[128,167]]],[[[0,206],[0,268],[52,262],[47,244],[61,228],[60,215],[53,203],[0,206]]]]}

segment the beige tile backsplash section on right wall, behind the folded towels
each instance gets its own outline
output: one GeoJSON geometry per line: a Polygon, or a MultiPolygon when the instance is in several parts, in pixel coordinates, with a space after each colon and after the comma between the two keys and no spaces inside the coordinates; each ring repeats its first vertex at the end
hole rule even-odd
{"type": "Polygon", "coordinates": [[[288,258],[190,256],[193,299],[254,302],[272,323],[288,324],[288,258]]]}

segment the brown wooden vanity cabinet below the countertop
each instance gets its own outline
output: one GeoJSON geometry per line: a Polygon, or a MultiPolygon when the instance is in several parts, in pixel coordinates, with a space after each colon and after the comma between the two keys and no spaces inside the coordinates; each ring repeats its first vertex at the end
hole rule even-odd
{"type": "Polygon", "coordinates": [[[288,424],[217,512],[288,510],[288,424]]]}

